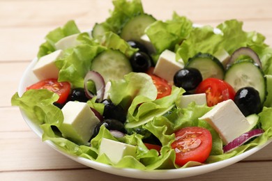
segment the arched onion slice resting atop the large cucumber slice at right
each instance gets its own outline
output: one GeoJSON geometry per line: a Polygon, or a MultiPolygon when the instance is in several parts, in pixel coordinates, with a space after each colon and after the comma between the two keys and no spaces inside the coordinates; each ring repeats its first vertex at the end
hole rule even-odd
{"type": "Polygon", "coordinates": [[[236,51],[234,51],[232,56],[229,58],[227,67],[229,67],[229,65],[232,65],[232,63],[234,63],[234,61],[236,61],[236,59],[239,58],[239,56],[241,55],[250,56],[250,58],[252,58],[253,61],[255,61],[255,63],[257,63],[260,68],[262,68],[262,63],[259,60],[259,56],[249,47],[241,47],[239,49],[236,49],[236,51]]]}

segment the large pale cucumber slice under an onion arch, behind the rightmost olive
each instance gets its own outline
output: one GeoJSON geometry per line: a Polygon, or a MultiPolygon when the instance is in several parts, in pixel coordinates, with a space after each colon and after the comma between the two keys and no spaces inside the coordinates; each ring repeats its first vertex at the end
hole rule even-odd
{"type": "Polygon", "coordinates": [[[227,81],[235,91],[246,86],[255,88],[259,92],[261,102],[264,102],[266,97],[266,79],[264,72],[251,61],[239,61],[232,64],[225,74],[225,81],[227,81]]]}

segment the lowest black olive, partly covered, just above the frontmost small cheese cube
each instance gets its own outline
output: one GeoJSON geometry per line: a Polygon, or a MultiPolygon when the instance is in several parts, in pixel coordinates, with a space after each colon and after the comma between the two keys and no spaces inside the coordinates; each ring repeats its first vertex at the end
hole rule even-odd
{"type": "Polygon", "coordinates": [[[108,130],[116,130],[116,131],[126,134],[126,129],[125,129],[123,123],[121,123],[119,120],[107,119],[107,120],[103,120],[103,122],[98,123],[98,125],[96,125],[96,127],[94,127],[92,138],[94,138],[96,135],[98,135],[100,127],[102,125],[105,125],[105,127],[108,130]]]}

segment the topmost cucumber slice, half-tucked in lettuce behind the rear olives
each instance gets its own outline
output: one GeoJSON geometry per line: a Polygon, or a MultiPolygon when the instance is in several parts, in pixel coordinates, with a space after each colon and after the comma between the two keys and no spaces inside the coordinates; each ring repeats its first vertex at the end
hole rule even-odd
{"type": "Polygon", "coordinates": [[[120,36],[126,41],[134,40],[141,42],[141,37],[144,35],[144,30],[153,22],[156,22],[156,19],[151,15],[137,15],[123,26],[120,36]]]}

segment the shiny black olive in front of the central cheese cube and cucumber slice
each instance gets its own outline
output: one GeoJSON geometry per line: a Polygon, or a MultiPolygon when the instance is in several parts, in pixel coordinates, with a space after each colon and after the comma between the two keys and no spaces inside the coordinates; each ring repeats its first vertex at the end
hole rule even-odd
{"type": "Polygon", "coordinates": [[[202,75],[196,68],[183,68],[174,74],[174,85],[186,91],[192,91],[202,81],[202,75]]]}

